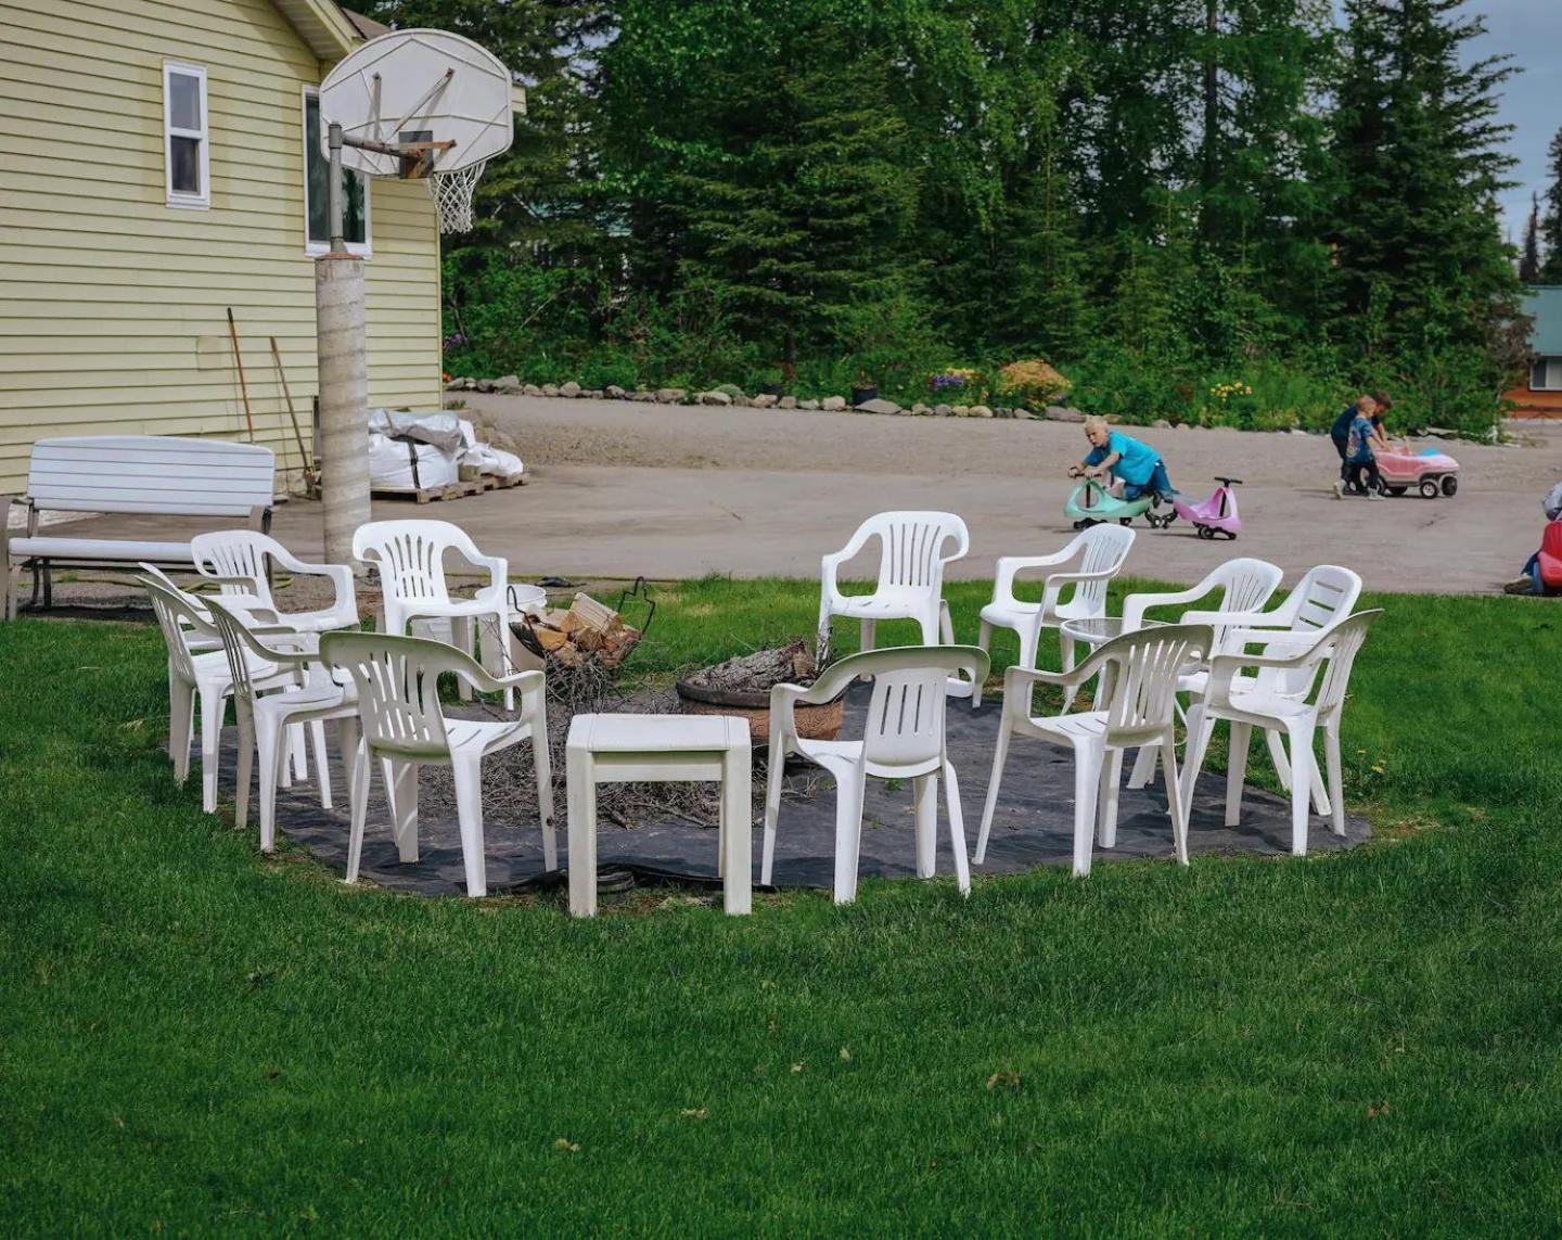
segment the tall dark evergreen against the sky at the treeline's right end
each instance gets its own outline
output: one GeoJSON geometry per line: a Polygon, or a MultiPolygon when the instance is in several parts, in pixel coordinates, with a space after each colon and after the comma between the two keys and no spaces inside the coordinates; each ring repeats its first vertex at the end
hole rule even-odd
{"type": "Polygon", "coordinates": [[[1390,348],[1487,347],[1517,311],[1495,194],[1512,159],[1495,120],[1506,56],[1464,64],[1482,31],[1462,0],[1346,0],[1339,92],[1339,197],[1331,234],[1346,312],[1379,298],[1390,348]]]}

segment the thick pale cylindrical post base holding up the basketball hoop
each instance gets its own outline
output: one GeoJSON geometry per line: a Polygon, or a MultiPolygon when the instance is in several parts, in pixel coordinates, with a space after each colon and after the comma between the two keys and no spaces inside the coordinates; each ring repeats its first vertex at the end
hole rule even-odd
{"type": "Polygon", "coordinates": [[[353,533],[369,520],[369,361],[361,258],[322,255],[314,261],[314,315],[325,561],[351,564],[353,533]]]}

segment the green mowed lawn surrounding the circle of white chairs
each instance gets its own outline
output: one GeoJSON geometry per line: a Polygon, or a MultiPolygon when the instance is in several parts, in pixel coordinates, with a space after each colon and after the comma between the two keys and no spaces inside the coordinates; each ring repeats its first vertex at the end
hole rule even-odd
{"type": "MultiPolygon", "coordinates": [[[[809,632],[815,589],[669,589],[637,665],[809,632]]],[[[1562,611],[1370,601],[1351,853],[589,923],[259,857],[170,779],[150,628],[0,626],[0,1223],[1553,1231],[1562,611]]]]}

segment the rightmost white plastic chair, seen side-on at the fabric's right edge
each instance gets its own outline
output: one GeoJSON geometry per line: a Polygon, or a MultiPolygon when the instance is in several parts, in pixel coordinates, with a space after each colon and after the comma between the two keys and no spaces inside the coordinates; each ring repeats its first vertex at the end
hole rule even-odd
{"type": "Polygon", "coordinates": [[[1242,821],[1242,784],[1248,770],[1248,739],[1262,728],[1278,743],[1281,732],[1290,742],[1290,851],[1307,851],[1307,800],[1317,779],[1312,753],[1315,732],[1325,737],[1328,768],[1329,828],[1345,834],[1345,801],[1340,775],[1340,714],[1351,667],[1367,629],[1382,615],[1365,611],[1315,636],[1293,654],[1217,654],[1211,659],[1209,686],[1203,700],[1189,711],[1189,757],[1184,781],[1184,812],[1192,804],[1193,781],[1209,751],[1211,726],[1217,718],[1231,723],[1231,756],[1226,762],[1226,826],[1242,821]],[[1243,670],[1256,670],[1246,678],[1243,670]],[[1323,668],[1320,676],[1320,668],[1323,668]],[[1278,673],[1265,676],[1264,673],[1278,673]],[[1303,686],[1296,692],[1296,686],[1303,686]]]}

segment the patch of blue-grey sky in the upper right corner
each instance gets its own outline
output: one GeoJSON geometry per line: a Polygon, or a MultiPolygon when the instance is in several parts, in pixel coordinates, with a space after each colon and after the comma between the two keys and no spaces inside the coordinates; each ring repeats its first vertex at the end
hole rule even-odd
{"type": "Polygon", "coordinates": [[[1473,56],[1507,52],[1525,72],[1503,87],[1501,117],[1514,125],[1509,153],[1518,159],[1501,195],[1504,228],[1517,245],[1529,217],[1529,195],[1546,187],[1546,148],[1562,130],[1562,0],[1471,0],[1465,12],[1485,17],[1487,33],[1467,44],[1473,56]]]}

